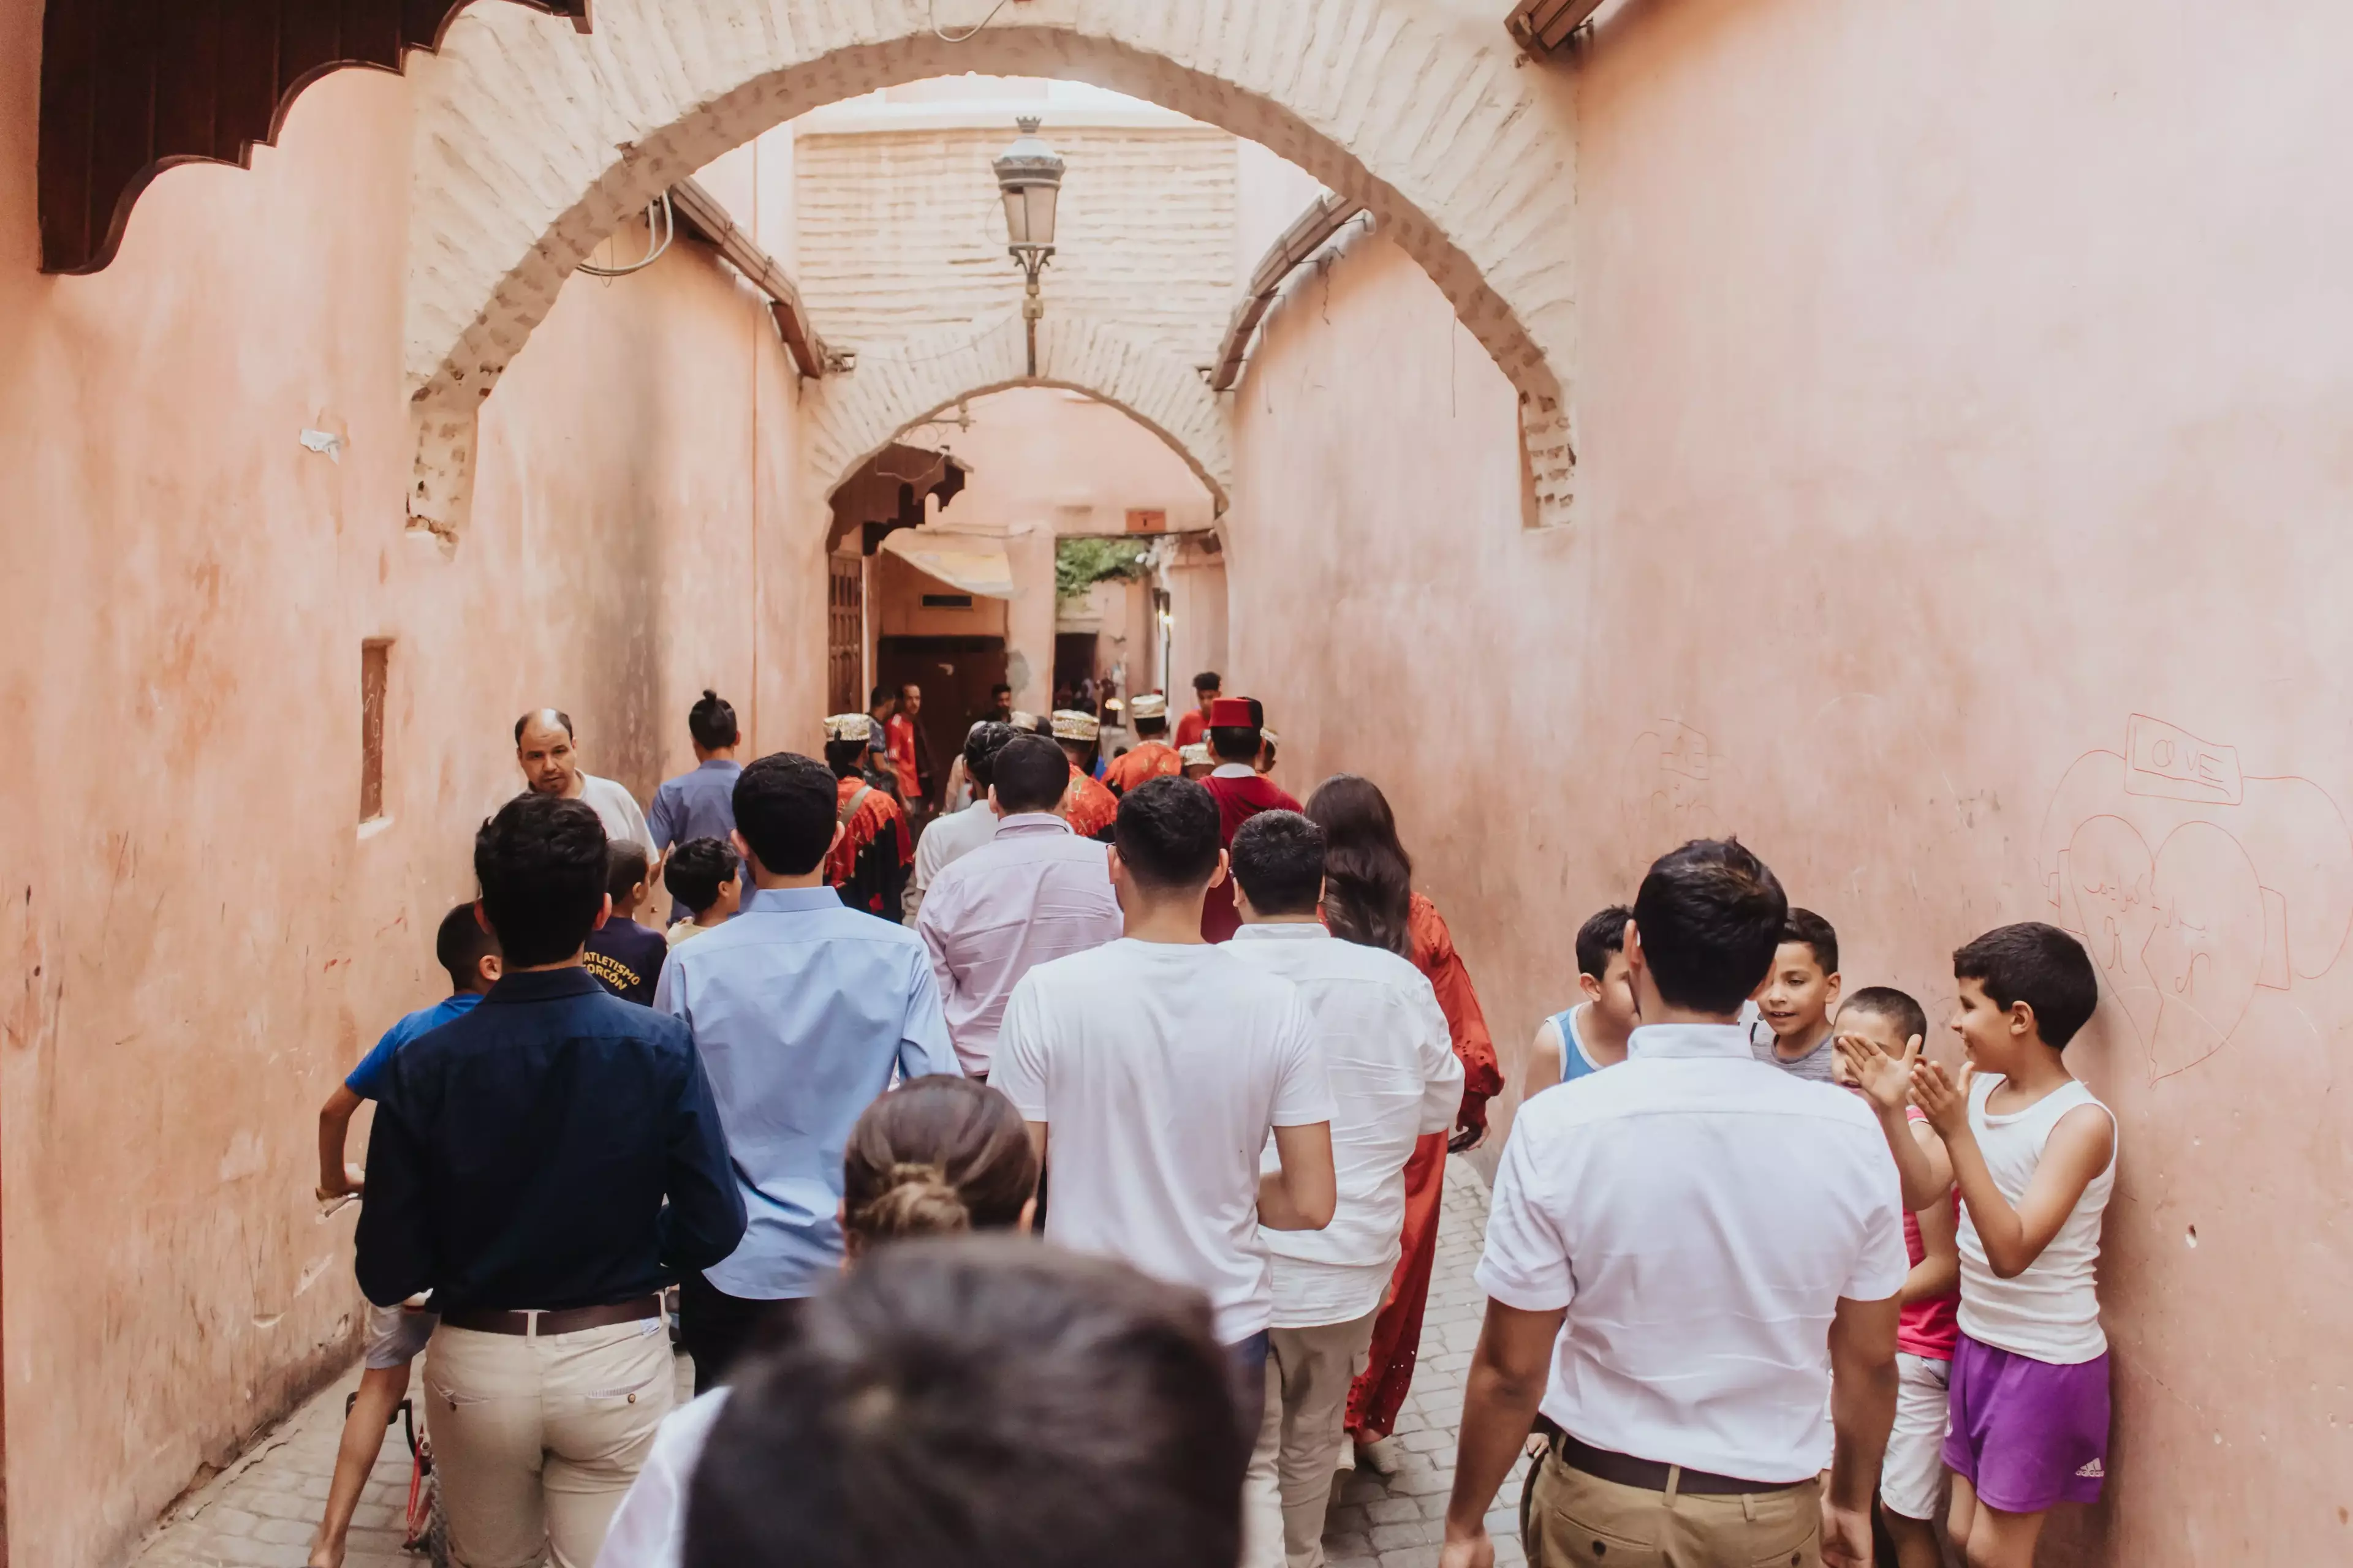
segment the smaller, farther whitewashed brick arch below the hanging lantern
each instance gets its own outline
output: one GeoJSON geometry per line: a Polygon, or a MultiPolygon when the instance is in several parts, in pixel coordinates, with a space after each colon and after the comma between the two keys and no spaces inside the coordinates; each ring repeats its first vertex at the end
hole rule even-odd
{"type": "Polygon", "coordinates": [[[995,324],[941,327],[859,355],[849,376],[826,376],[802,400],[812,501],[894,442],[908,425],[967,397],[1009,386],[1059,386],[1125,411],[1158,435],[1226,510],[1233,463],[1226,411],[1200,374],[1160,343],[1111,322],[1047,315],[1038,324],[1038,374],[1028,374],[1021,315],[995,324]]]}

